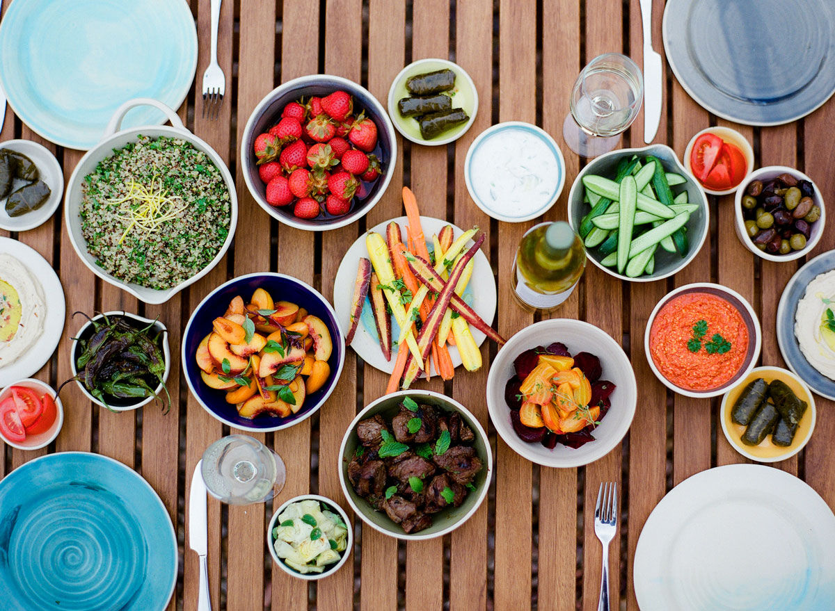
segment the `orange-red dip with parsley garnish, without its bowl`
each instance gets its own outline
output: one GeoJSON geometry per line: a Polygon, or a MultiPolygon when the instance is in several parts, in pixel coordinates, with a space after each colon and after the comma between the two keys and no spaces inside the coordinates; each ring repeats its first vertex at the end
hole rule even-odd
{"type": "Polygon", "coordinates": [[[661,375],[689,391],[722,386],[740,370],[748,328],[729,301],[686,293],[667,302],[650,328],[650,353],[661,375]]]}

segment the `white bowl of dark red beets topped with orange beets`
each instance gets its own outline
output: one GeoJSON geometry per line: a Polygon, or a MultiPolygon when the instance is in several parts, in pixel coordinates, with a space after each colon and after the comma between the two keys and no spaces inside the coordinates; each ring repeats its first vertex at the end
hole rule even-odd
{"type": "Polygon", "coordinates": [[[618,342],[574,319],[519,331],[498,351],[487,379],[496,431],[544,467],[604,457],[629,430],[636,401],[635,372],[618,342]]]}

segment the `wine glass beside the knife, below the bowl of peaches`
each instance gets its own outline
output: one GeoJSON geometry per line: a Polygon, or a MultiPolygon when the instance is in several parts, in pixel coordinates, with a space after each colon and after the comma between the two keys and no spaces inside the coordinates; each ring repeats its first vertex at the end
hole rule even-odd
{"type": "Polygon", "coordinates": [[[265,502],[281,492],[287,471],[269,447],[248,435],[221,437],[206,448],[200,468],[206,490],[221,502],[265,502]]]}

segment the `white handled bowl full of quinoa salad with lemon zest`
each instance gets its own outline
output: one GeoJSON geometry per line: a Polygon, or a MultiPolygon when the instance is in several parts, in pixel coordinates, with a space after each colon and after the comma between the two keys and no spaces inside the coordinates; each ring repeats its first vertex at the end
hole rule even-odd
{"type": "Polygon", "coordinates": [[[69,179],[64,215],[78,256],[103,280],[160,304],[207,274],[235,235],[238,200],[223,159],[149,98],[122,105],[69,179]],[[171,126],[119,131],[134,106],[171,126]]]}

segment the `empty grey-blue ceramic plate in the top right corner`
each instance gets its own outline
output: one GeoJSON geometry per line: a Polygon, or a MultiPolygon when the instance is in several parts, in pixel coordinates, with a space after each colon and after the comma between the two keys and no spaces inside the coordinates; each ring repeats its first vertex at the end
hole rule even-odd
{"type": "Polygon", "coordinates": [[[664,48],[681,86],[711,113],[778,125],[835,91],[832,0],[670,0],[664,48]]]}

